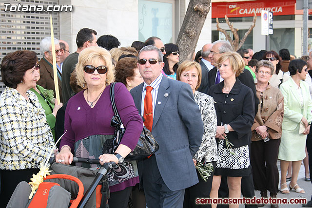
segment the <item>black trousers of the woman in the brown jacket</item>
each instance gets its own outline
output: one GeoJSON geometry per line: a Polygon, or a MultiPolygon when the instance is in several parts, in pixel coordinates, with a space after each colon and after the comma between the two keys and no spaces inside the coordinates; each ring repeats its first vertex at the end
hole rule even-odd
{"type": "Polygon", "coordinates": [[[254,189],[278,192],[279,174],[276,166],[280,139],[252,142],[250,162],[253,167],[254,189]]]}

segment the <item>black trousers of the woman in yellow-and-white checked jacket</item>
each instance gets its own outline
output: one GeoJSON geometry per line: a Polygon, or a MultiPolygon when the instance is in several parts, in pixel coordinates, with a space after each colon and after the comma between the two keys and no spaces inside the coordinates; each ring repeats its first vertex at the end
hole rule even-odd
{"type": "Polygon", "coordinates": [[[5,208],[9,200],[21,181],[30,182],[33,174],[37,174],[39,169],[24,169],[24,170],[0,170],[1,173],[1,193],[0,193],[0,208],[5,208]]]}

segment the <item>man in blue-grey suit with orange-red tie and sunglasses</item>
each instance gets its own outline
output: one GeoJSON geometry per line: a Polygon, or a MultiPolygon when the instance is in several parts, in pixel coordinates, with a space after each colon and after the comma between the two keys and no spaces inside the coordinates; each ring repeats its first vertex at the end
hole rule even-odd
{"type": "MultiPolygon", "coordinates": [[[[158,48],[151,45],[142,48],[137,66],[144,82],[130,93],[143,115],[147,106],[144,99],[151,92],[153,112],[143,116],[153,116],[149,118],[151,132],[159,144],[155,154],[138,162],[147,206],[182,208],[185,188],[198,183],[193,155],[203,135],[199,108],[188,84],[161,74],[164,62],[158,48]]],[[[145,126],[148,127],[146,123],[145,126]]]]}

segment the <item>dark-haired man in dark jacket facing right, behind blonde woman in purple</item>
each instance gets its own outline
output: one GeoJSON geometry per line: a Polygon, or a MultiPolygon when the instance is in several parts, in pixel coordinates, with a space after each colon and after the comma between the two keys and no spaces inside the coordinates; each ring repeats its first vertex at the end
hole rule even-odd
{"type": "Polygon", "coordinates": [[[74,91],[70,87],[70,75],[74,71],[76,64],[78,63],[79,53],[90,46],[98,46],[97,44],[97,35],[98,33],[95,30],[89,28],[82,28],[79,30],[76,37],[77,51],[69,55],[63,63],[62,66],[62,94],[64,103],[66,103],[69,98],[74,95],[74,91]]]}

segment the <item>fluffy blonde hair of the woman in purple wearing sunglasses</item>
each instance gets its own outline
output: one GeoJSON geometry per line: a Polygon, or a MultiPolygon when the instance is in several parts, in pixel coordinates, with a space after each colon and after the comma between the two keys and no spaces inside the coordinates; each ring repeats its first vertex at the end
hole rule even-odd
{"type": "Polygon", "coordinates": [[[114,72],[111,54],[104,48],[99,46],[91,46],[81,51],[78,56],[78,63],[76,65],[77,84],[82,89],[87,89],[86,81],[84,79],[84,66],[88,64],[95,64],[98,60],[103,60],[107,67],[105,84],[109,85],[114,81],[114,72]]]}

